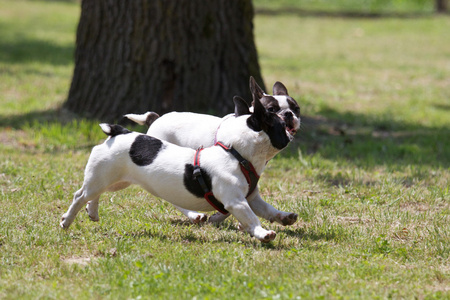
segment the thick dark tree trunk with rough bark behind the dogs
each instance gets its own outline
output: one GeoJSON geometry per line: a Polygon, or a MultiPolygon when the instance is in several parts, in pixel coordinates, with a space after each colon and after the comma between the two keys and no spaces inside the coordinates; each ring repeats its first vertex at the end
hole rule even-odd
{"type": "Polygon", "coordinates": [[[126,113],[232,112],[262,84],[251,0],[83,0],[65,108],[126,113]]]}

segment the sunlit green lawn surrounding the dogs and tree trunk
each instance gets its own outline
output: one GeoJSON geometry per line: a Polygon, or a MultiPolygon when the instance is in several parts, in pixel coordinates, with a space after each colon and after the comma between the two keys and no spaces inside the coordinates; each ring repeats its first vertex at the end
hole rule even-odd
{"type": "Polygon", "coordinates": [[[0,298],[450,298],[448,17],[256,16],[266,84],[304,115],[260,184],[299,221],[264,245],[138,187],[58,228],[104,138],[59,109],[78,16],[0,1],[0,298]]]}

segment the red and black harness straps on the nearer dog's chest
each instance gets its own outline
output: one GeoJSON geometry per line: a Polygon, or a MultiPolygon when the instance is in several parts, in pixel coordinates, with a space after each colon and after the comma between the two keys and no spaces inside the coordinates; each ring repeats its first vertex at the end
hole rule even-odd
{"type": "MultiPolygon", "coordinates": [[[[256,186],[258,185],[258,180],[259,180],[259,175],[258,175],[258,173],[256,173],[256,170],[253,167],[252,163],[249,162],[248,160],[246,160],[245,158],[243,158],[239,154],[239,152],[237,152],[235,149],[233,149],[233,147],[227,147],[221,142],[216,142],[214,144],[214,146],[220,146],[225,151],[230,152],[231,155],[233,155],[239,161],[241,171],[244,174],[245,179],[247,180],[247,183],[248,183],[248,193],[247,193],[247,196],[245,196],[245,197],[250,196],[250,194],[253,193],[253,191],[256,189],[256,186]]],[[[194,172],[193,172],[194,178],[198,181],[201,188],[205,192],[204,197],[205,197],[206,201],[208,201],[208,203],[211,204],[211,206],[214,207],[216,210],[218,210],[219,212],[226,215],[229,212],[225,209],[223,204],[221,202],[219,202],[216,199],[216,197],[214,197],[214,195],[211,191],[211,188],[209,188],[206,185],[205,179],[203,178],[202,173],[200,171],[200,152],[203,149],[204,148],[200,148],[195,152],[194,172]]]]}

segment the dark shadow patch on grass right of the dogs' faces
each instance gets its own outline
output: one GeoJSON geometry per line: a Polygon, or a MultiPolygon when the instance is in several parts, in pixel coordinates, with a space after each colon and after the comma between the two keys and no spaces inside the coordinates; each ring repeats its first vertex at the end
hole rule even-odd
{"type": "MultiPolygon", "coordinates": [[[[279,154],[298,159],[302,154],[347,161],[357,166],[427,165],[450,167],[450,128],[425,127],[327,109],[304,117],[293,143],[279,154]]],[[[337,183],[339,184],[339,183],[337,183]]]]}

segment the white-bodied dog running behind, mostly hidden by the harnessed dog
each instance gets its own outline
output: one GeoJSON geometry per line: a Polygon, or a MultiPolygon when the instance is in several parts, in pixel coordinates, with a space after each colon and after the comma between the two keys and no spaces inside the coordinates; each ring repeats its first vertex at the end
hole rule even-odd
{"type": "MultiPolygon", "coordinates": [[[[289,133],[295,135],[300,127],[300,107],[289,96],[287,88],[277,81],[273,85],[273,96],[271,96],[262,90],[253,77],[250,77],[249,85],[253,98],[250,111],[253,111],[255,101],[259,100],[268,111],[276,113],[282,118],[289,133]]],[[[127,114],[125,117],[138,124],[149,126],[148,135],[179,146],[197,149],[212,146],[217,140],[216,134],[220,130],[221,123],[233,117],[233,114],[219,118],[205,114],[172,112],[159,117],[154,112],[147,112],[142,115],[127,114]]],[[[256,197],[262,201],[259,192],[256,197]]],[[[203,213],[177,208],[193,223],[205,222],[208,219],[207,215],[203,213]]],[[[211,216],[209,221],[219,223],[226,217],[228,215],[218,212],[211,216]]]]}

